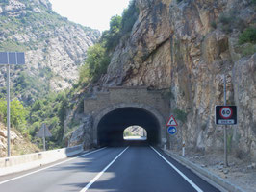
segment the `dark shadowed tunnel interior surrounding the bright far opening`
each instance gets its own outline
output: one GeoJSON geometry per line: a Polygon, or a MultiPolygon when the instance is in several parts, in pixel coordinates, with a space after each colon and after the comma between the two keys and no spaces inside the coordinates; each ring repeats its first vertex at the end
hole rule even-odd
{"type": "Polygon", "coordinates": [[[123,131],[133,125],[141,126],[147,132],[150,145],[160,142],[160,124],[157,118],[149,111],[142,108],[118,108],[102,117],[97,133],[100,146],[129,145],[132,141],[123,139],[123,131]]]}

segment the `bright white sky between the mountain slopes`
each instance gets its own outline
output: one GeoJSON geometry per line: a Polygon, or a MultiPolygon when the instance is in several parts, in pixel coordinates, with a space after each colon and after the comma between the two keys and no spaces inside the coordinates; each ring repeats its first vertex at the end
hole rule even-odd
{"type": "Polygon", "coordinates": [[[52,8],[68,20],[97,29],[109,30],[110,19],[121,15],[130,0],[50,0],[52,8]]]}

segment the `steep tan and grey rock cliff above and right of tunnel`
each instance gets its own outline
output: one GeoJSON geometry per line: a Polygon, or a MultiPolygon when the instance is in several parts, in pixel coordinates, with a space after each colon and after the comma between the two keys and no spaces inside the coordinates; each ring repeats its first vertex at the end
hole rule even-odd
{"type": "Polygon", "coordinates": [[[239,108],[238,125],[228,127],[228,148],[256,159],[256,54],[244,54],[249,45],[238,44],[243,29],[255,25],[252,1],[138,0],[137,6],[139,19],[116,47],[102,84],[169,88],[179,127],[168,142],[179,147],[185,140],[210,152],[223,148],[215,106],[223,104],[226,74],[227,104],[239,108]]]}

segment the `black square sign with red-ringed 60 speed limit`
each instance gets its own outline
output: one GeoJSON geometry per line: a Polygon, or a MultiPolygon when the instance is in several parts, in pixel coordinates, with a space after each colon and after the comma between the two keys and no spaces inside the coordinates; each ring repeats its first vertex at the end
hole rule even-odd
{"type": "Polygon", "coordinates": [[[216,106],[217,125],[236,125],[237,107],[236,106],[216,106]]]}

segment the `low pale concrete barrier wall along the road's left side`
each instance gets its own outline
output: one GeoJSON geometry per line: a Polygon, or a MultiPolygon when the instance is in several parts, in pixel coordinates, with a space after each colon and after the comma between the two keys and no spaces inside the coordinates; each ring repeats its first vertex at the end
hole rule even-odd
{"type": "Polygon", "coordinates": [[[83,145],[70,148],[39,152],[23,156],[0,158],[0,176],[25,171],[42,165],[73,156],[83,151],[83,145]]]}

